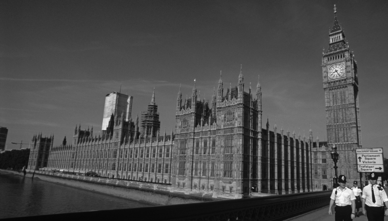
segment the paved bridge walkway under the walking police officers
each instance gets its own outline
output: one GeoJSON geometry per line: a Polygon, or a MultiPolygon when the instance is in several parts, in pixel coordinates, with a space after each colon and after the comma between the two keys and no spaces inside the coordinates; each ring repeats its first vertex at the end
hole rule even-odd
{"type": "MultiPolygon", "coordinates": [[[[330,216],[328,211],[329,206],[327,205],[321,209],[311,211],[299,217],[288,219],[287,221],[334,221],[335,215],[333,214],[330,216]]],[[[360,212],[360,217],[356,217],[354,221],[368,221],[368,219],[360,212]]],[[[388,217],[385,217],[384,221],[388,221],[388,217]]]]}

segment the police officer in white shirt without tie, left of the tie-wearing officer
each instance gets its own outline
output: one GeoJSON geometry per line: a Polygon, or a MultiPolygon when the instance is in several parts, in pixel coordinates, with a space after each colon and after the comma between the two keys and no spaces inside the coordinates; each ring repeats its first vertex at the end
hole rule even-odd
{"type": "Polygon", "coordinates": [[[346,185],[346,177],[339,175],[339,187],[333,190],[330,196],[329,215],[332,214],[333,205],[336,204],[336,220],[335,221],[351,221],[355,216],[356,211],[356,197],[353,191],[346,185]]]}

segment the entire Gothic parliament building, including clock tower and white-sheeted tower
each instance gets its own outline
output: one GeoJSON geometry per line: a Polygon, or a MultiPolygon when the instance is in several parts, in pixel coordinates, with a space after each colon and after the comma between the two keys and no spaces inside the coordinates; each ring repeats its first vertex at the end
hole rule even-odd
{"type": "MultiPolygon", "coordinates": [[[[32,138],[28,168],[167,185],[171,192],[241,198],[251,193],[287,194],[332,187],[333,145],[339,174],[359,179],[355,149],[361,147],[357,65],[335,12],[329,47],[322,58],[327,141],[314,140],[262,122],[262,94],[222,76],[211,101],[194,87],[182,99],[179,88],[175,131],[160,130],[155,89],[147,110],[132,118],[131,96],[106,95],[102,134],[77,125],[72,140],[53,146],[53,136],[32,138]],[[224,91],[224,89],[226,89],[224,91]],[[264,125],[263,125],[264,124],[264,125]]],[[[178,89],[178,88],[177,88],[178,89]]]]}

